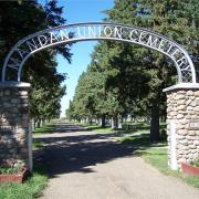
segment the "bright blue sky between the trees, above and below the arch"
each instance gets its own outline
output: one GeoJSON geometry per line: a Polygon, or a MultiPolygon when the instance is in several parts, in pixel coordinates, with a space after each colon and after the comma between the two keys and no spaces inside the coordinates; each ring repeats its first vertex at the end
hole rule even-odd
{"type": "MultiPolygon", "coordinates": [[[[66,23],[103,21],[106,15],[102,11],[111,9],[113,4],[114,0],[59,0],[59,6],[64,7],[63,17],[67,20],[66,23]]],[[[90,54],[93,52],[95,44],[96,42],[94,41],[73,44],[71,48],[73,53],[72,64],[69,64],[61,55],[57,55],[57,71],[69,74],[69,78],[64,82],[67,87],[67,94],[61,102],[61,116],[64,116],[65,109],[69,107],[69,101],[73,98],[78,76],[91,62],[90,54]]]]}

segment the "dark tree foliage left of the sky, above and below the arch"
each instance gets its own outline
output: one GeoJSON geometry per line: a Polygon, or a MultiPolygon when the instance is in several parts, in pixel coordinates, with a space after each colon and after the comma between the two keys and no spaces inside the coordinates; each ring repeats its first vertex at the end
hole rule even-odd
{"type": "MultiPolygon", "coordinates": [[[[10,49],[24,36],[65,23],[63,8],[57,0],[40,4],[31,1],[0,2],[0,64],[10,49]]],[[[25,63],[22,80],[31,83],[30,107],[31,117],[41,121],[60,116],[60,101],[66,87],[61,83],[66,74],[59,74],[55,55],[62,54],[71,62],[69,45],[48,49],[33,55],[25,63]]],[[[12,75],[12,74],[9,74],[12,75]]]]}

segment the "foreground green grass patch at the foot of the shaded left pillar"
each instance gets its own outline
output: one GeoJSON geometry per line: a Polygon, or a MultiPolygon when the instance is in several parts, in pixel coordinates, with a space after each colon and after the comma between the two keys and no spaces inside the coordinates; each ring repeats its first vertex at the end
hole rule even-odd
{"type": "Polygon", "coordinates": [[[33,174],[24,184],[0,184],[0,199],[32,199],[41,196],[48,176],[42,165],[34,164],[33,174]]]}

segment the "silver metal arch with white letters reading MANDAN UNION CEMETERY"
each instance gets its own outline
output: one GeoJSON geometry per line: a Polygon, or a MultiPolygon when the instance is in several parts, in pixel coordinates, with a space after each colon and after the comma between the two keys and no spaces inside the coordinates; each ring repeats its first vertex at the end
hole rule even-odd
{"type": "Polygon", "coordinates": [[[46,29],[20,40],[6,57],[2,82],[21,81],[21,71],[33,53],[50,46],[86,40],[115,40],[143,45],[169,56],[177,69],[179,83],[196,83],[196,71],[187,51],[172,40],[132,25],[91,22],[46,29]],[[15,74],[12,78],[9,73],[15,74]]]}

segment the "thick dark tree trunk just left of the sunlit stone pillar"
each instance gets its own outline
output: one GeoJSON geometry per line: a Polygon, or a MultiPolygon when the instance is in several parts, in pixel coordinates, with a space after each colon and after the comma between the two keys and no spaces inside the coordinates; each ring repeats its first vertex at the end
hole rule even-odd
{"type": "Polygon", "coordinates": [[[150,121],[150,142],[159,140],[159,103],[153,101],[151,121],[150,121]]]}

